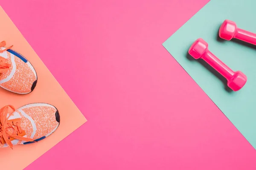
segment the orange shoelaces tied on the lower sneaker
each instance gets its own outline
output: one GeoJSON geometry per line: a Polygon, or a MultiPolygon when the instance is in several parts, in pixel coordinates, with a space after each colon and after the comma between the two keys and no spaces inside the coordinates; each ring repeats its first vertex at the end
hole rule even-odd
{"type": "Polygon", "coordinates": [[[0,142],[2,144],[6,143],[9,147],[12,148],[12,140],[18,139],[26,142],[35,142],[33,139],[23,137],[26,133],[20,127],[20,119],[13,119],[9,121],[8,110],[12,109],[12,112],[15,111],[15,108],[12,105],[6,105],[0,109],[0,142]],[[13,129],[13,133],[9,131],[9,128],[13,129]]]}

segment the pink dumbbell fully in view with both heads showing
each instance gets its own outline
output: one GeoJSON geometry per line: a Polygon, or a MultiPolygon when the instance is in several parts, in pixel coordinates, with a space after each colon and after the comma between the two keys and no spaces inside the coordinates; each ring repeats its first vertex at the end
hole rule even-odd
{"type": "Polygon", "coordinates": [[[195,40],[189,48],[189,54],[195,59],[204,59],[216,71],[227,79],[227,86],[239,91],[246,83],[247,77],[241,71],[233,71],[208,50],[208,43],[202,38],[195,40]]]}

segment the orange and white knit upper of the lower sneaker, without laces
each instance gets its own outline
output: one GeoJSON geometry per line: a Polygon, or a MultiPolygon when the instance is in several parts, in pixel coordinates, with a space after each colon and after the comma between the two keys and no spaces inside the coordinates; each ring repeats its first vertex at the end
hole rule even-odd
{"type": "MultiPolygon", "coordinates": [[[[18,108],[15,112],[8,114],[9,122],[15,122],[20,119],[20,127],[25,131],[23,137],[31,138],[33,140],[47,137],[52,134],[58,127],[59,122],[56,120],[57,109],[49,104],[35,103],[25,105],[18,108]]],[[[14,124],[12,124],[15,127],[14,124]]],[[[8,127],[9,132],[13,133],[14,128],[8,127]]],[[[1,137],[0,137],[1,141],[1,137]]],[[[12,144],[23,144],[27,141],[12,140],[12,144]]],[[[7,147],[6,143],[0,142],[0,147],[7,147]]]]}

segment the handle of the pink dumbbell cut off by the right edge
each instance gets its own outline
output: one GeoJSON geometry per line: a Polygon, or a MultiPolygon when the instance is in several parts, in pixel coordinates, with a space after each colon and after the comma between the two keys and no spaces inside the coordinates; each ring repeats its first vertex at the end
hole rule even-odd
{"type": "Polygon", "coordinates": [[[240,28],[236,28],[234,38],[256,45],[256,34],[240,28]]]}

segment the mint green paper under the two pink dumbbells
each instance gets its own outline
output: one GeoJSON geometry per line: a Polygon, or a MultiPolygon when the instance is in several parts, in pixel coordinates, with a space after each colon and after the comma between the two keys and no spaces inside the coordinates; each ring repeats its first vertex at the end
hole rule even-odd
{"type": "Polygon", "coordinates": [[[256,46],[220,40],[218,29],[226,19],[256,33],[256,0],[211,0],[163,46],[256,149],[256,46]],[[204,62],[188,55],[190,45],[200,37],[233,71],[240,70],[247,76],[240,91],[227,90],[226,82],[209,71],[204,62]]]}

